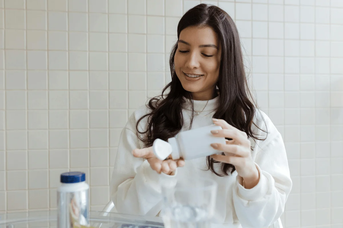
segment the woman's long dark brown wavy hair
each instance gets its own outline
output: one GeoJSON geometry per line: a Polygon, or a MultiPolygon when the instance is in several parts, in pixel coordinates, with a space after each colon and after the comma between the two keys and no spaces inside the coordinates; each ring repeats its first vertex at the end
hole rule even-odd
{"type": "MultiPolygon", "coordinates": [[[[239,34],[233,19],[217,6],[199,4],[188,10],[180,19],[177,26],[178,39],[181,31],[189,26],[213,28],[221,45],[221,63],[217,81],[219,105],[213,118],[225,120],[235,128],[244,131],[254,141],[256,139],[264,140],[258,138],[258,135],[252,130],[253,125],[259,129],[258,124],[253,122],[257,104],[249,91],[239,34]]],[[[137,121],[137,136],[145,147],[152,146],[157,138],[166,141],[181,131],[184,124],[182,103],[185,100],[182,98],[183,96],[191,100],[191,109],[193,110],[192,94],[182,87],[175,72],[174,57],[177,47],[178,42],[173,46],[169,59],[171,82],[164,87],[161,95],[149,100],[146,106],[151,112],[137,121]],[[145,117],[148,117],[146,129],[140,131],[139,122],[145,117]]],[[[192,112],[189,129],[191,129],[193,117],[192,112]]],[[[226,176],[235,171],[232,164],[222,163],[222,173],[217,173],[214,163],[217,161],[207,157],[208,169],[218,176],[226,176]]]]}

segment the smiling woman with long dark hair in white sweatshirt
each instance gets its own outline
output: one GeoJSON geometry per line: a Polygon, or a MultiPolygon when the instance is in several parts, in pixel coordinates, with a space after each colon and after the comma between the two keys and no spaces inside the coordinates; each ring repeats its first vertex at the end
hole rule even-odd
{"type": "Polygon", "coordinates": [[[159,181],[200,176],[218,183],[215,214],[222,227],[280,222],[292,187],[285,147],[251,98],[234,21],[217,6],[200,4],[180,19],[177,35],[171,82],[132,114],[121,133],[111,180],[118,212],[156,216],[159,181]],[[156,138],[167,140],[212,123],[223,128],[213,135],[230,139],[211,145],[223,155],[186,162],[153,156],[156,138]]]}

